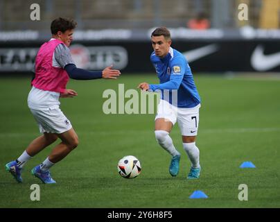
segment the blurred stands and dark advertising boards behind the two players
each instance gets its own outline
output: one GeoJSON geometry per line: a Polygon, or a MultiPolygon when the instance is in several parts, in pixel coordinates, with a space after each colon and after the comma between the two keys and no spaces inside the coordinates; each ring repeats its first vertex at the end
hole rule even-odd
{"type": "Polygon", "coordinates": [[[56,17],[78,22],[71,53],[85,69],[154,71],[150,33],[166,26],[197,73],[277,73],[279,9],[280,0],[0,0],[0,76],[32,69],[56,17]]]}

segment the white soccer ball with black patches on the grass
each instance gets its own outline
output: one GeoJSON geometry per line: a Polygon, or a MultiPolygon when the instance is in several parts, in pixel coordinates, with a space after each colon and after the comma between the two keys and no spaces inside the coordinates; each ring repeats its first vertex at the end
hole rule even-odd
{"type": "Polygon", "coordinates": [[[117,168],[119,174],[128,179],[136,178],[141,172],[141,164],[137,157],[133,155],[126,155],[121,158],[117,168]]]}

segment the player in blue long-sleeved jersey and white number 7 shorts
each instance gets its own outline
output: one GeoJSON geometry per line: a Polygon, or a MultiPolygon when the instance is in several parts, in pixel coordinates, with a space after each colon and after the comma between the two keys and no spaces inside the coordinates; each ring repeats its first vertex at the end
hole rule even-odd
{"type": "Polygon", "coordinates": [[[170,31],[167,28],[156,28],[151,40],[154,51],[150,60],[156,69],[159,84],[140,83],[138,87],[144,91],[161,92],[155,117],[155,137],[159,145],[172,155],[169,173],[177,176],[181,154],[173,145],[169,133],[178,122],[184,150],[191,160],[187,178],[199,178],[200,151],[195,146],[195,138],[198,134],[200,96],[191,68],[182,53],[170,46],[170,31]]]}

